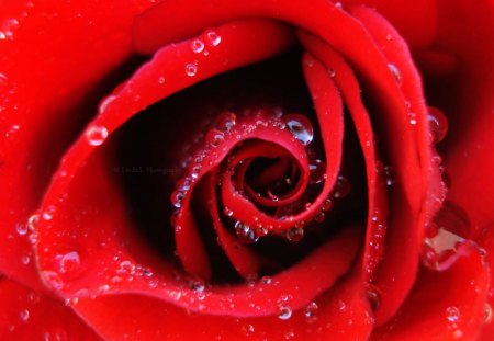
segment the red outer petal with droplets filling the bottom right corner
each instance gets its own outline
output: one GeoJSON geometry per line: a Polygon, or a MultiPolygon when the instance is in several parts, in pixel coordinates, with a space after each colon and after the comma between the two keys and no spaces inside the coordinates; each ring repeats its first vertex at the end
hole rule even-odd
{"type": "Polygon", "coordinates": [[[472,245],[445,272],[423,269],[401,311],[372,340],[474,340],[485,319],[489,270],[472,245]]]}

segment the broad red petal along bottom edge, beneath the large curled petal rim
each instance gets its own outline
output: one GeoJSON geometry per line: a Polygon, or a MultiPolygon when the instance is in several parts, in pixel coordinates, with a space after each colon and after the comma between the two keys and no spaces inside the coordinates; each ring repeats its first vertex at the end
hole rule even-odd
{"type": "Polygon", "coordinates": [[[80,299],[76,307],[78,314],[108,339],[125,334],[132,340],[368,339],[372,318],[361,289],[360,275],[341,281],[314,302],[318,308],[313,310],[313,317],[306,317],[305,308],[293,311],[288,320],[280,320],[276,316],[232,318],[194,314],[153,298],[133,295],[80,299]],[[147,318],[142,319],[143,315],[147,318]],[[120,323],[109,322],[115,320],[120,323]]]}

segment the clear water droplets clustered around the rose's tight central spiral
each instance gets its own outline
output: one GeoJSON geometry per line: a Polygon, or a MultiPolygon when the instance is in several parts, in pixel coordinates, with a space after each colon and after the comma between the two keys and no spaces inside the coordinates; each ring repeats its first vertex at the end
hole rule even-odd
{"type": "MultiPolygon", "coordinates": [[[[195,42],[193,44],[197,49],[202,48],[202,44],[200,42],[195,42]]],[[[170,202],[176,208],[176,213],[171,219],[176,231],[181,230],[181,226],[176,225],[178,212],[181,209],[183,201],[189,195],[189,192],[199,181],[205,160],[211,159],[211,155],[214,154],[215,150],[221,149],[225,144],[225,140],[236,139],[238,141],[238,146],[242,146],[242,140],[259,128],[290,132],[293,136],[293,141],[301,144],[306,149],[310,170],[308,185],[313,186],[315,190],[321,189],[321,185],[327,177],[326,163],[324,160],[316,157],[313,148],[311,147],[314,139],[314,128],[311,121],[306,116],[297,113],[283,114],[283,112],[279,109],[258,111],[245,110],[238,114],[231,111],[225,111],[216,117],[216,120],[214,120],[214,122],[211,123],[206,129],[204,129],[204,133],[201,133],[193,139],[193,144],[189,145],[189,150],[192,150],[193,152],[187,154],[180,162],[186,175],[176,182],[176,190],[170,196],[170,202]]],[[[225,159],[229,162],[232,158],[233,156],[227,156],[225,159]]],[[[242,163],[242,161],[239,163],[242,163]]],[[[228,168],[228,172],[229,175],[233,175],[234,169],[228,168]]],[[[223,177],[223,174],[216,175],[217,185],[222,184],[223,177]]],[[[291,178],[280,179],[280,185],[293,186],[294,181],[295,180],[291,178]]],[[[333,189],[332,195],[322,203],[317,214],[313,218],[313,223],[323,223],[326,218],[326,212],[332,209],[333,203],[336,200],[346,197],[349,192],[350,184],[348,180],[344,175],[339,175],[333,189]]],[[[245,194],[239,193],[239,195],[245,194]]],[[[262,196],[261,193],[257,193],[257,195],[258,197],[262,196]]],[[[282,198],[276,192],[271,192],[271,190],[268,190],[266,195],[267,196],[265,196],[265,198],[269,198],[274,203],[282,198]]],[[[304,201],[304,198],[302,198],[302,201],[304,201]]],[[[302,205],[302,209],[308,209],[310,207],[310,202],[305,202],[302,205]]],[[[277,213],[277,217],[280,219],[285,219],[285,216],[291,216],[293,213],[293,208],[282,207],[279,213],[277,213]]],[[[224,207],[223,214],[225,218],[231,221],[238,240],[243,243],[255,243],[261,237],[268,235],[272,229],[272,226],[262,226],[258,223],[254,226],[249,226],[244,221],[235,220],[235,212],[229,207],[224,207]]],[[[304,237],[304,227],[310,223],[311,221],[294,221],[294,227],[283,232],[282,237],[290,242],[297,242],[302,240],[304,237]]]]}

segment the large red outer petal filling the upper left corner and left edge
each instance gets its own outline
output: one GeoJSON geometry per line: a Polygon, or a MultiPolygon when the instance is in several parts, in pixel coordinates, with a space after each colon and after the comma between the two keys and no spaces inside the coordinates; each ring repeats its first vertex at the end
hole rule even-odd
{"type": "Polygon", "coordinates": [[[96,86],[128,56],[138,10],[133,1],[0,3],[0,271],[23,283],[37,280],[32,264],[15,261],[30,250],[18,225],[94,112],[106,90],[96,86]]]}

